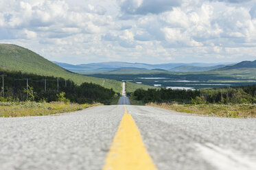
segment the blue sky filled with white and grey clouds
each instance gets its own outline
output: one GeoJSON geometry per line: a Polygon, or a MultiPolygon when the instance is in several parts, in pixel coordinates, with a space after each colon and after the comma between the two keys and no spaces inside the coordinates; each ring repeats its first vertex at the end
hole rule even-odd
{"type": "Polygon", "coordinates": [[[256,60],[256,0],[1,0],[0,43],[70,64],[256,60]]]}

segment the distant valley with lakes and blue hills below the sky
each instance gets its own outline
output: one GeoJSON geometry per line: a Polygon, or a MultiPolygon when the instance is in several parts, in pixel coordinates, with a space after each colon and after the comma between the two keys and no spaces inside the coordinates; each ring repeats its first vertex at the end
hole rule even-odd
{"type": "Polygon", "coordinates": [[[80,65],[56,62],[56,64],[86,76],[173,89],[224,88],[256,84],[256,60],[236,64],[143,64],[128,62],[80,65]]]}

